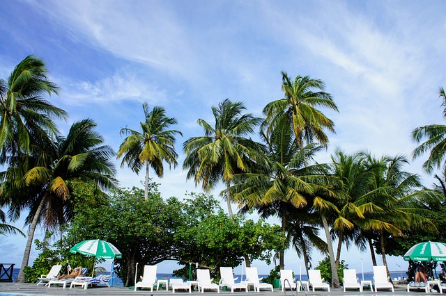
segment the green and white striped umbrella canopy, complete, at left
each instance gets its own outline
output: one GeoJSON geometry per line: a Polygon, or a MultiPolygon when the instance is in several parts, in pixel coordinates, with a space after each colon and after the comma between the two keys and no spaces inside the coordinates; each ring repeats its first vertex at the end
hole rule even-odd
{"type": "Polygon", "coordinates": [[[105,240],[84,240],[70,249],[70,252],[95,256],[100,259],[122,258],[121,252],[105,240]]]}

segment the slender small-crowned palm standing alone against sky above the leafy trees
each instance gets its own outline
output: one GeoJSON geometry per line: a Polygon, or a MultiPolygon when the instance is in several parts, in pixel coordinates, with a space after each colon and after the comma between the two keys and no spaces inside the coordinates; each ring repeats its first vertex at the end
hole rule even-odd
{"type": "Polygon", "coordinates": [[[160,178],[164,175],[163,161],[171,165],[178,165],[175,151],[175,135],[183,135],[180,131],[169,129],[169,126],[178,124],[174,117],[167,117],[166,110],[155,106],[148,110],[147,103],[142,105],[144,110],[144,122],[141,122],[141,132],[133,129],[121,129],[121,135],[128,135],[118,150],[117,158],[123,156],[121,167],[127,163],[133,172],[139,174],[139,170],[146,166],[146,180],[144,186],[144,198],[148,199],[149,167],[160,178]]]}

